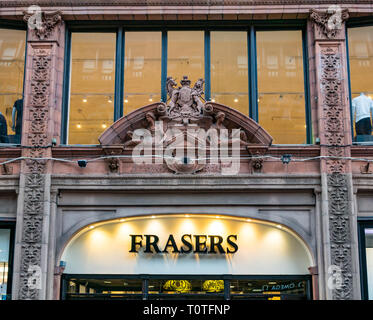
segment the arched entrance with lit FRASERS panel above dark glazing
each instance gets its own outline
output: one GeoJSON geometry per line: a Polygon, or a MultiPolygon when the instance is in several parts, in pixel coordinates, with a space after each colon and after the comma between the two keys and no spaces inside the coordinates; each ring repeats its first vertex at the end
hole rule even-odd
{"type": "Polygon", "coordinates": [[[286,226],[196,214],[89,225],[61,260],[64,299],[310,299],[314,265],[286,226]]]}

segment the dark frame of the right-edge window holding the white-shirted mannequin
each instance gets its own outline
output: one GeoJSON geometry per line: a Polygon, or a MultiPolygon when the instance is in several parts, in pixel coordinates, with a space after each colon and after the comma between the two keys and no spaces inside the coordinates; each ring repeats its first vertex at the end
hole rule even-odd
{"type": "Polygon", "coordinates": [[[349,39],[348,39],[348,29],[361,28],[361,27],[372,27],[373,17],[360,17],[360,18],[350,18],[346,22],[345,28],[345,38],[346,38],[346,56],[347,56],[347,79],[348,79],[348,99],[350,104],[350,126],[351,126],[351,140],[352,145],[373,145],[373,141],[367,142],[357,142],[354,140],[354,119],[352,117],[352,92],[351,92],[351,68],[350,68],[350,51],[349,51],[349,39]]]}

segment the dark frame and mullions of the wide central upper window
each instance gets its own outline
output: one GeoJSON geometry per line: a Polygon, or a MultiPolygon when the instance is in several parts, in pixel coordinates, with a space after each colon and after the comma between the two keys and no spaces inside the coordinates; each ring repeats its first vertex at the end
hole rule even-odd
{"type": "MultiPolygon", "coordinates": [[[[247,59],[248,59],[248,116],[258,122],[258,85],[257,85],[257,31],[286,31],[301,30],[303,48],[303,78],[304,78],[304,100],[305,100],[305,124],[307,143],[301,145],[312,145],[312,118],[310,107],[310,88],[308,70],[307,50],[307,20],[240,20],[240,21],[148,21],[143,25],[141,21],[71,21],[66,23],[65,37],[65,61],[64,82],[62,101],[62,124],[61,145],[70,145],[67,141],[70,104],[70,74],[71,74],[71,34],[72,32],[116,32],[116,61],[115,61],[115,89],[114,89],[114,122],[123,116],[124,97],[124,59],[125,59],[125,32],[127,31],[158,31],[162,32],[162,55],[161,55],[161,101],[167,101],[166,79],[167,79],[167,49],[168,31],[203,31],[204,32],[204,79],[205,98],[211,99],[211,39],[212,31],[245,31],[247,32],[247,59]]],[[[287,145],[287,144],[278,144],[287,145]]],[[[290,144],[289,144],[290,145],[290,144]]],[[[297,144],[291,144],[292,146],[297,144]]],[[[70,145],[70,146],[92,146],[92,145],[70,145]]],[[[97,146],[97,145],[93,145],[97,146]]]]}

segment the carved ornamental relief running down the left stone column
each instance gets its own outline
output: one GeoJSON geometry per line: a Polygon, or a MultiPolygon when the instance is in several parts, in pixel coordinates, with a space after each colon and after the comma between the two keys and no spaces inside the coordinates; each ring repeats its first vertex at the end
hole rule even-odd
{"type": "MultiPolygon", "coordinates": [[[[49,36],[52,27],[59,21],[56,16],[47,17],[44,29],[37,31],[40,39],[49,36]]],[[[51,49],[31,47],[32,73],[31,92],[26,99],[25,111],[29,115],[27,142],[32,148],[24,150],[31,159],[25,161],[25,185],[23,203],[23,230],[21,250],[21,274],[18,298],[38,299],[39,289],[29,287],[31,271],[41,266],[41,243],[43,237],[44,192],[46,161],[45,146],[48,145],[48,108],[50,94],[51,49]]]]}

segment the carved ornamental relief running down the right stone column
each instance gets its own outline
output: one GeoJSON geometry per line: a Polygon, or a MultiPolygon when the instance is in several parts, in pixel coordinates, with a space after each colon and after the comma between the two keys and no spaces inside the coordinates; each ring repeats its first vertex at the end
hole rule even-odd
{"type": "MultiPolygon", "coordinates": [[[[347,13],[346,13],[347,14],[347,13]]],[[[344,15],[345,19],[348,15],[344,15]]],[[[315,22],[322,25],[328,38],[335,36],[327,29],[328,16],[314,12],[315,22]]],[[[345,126],[343,105],[343,79],[341,53],[338,45],[322,45],[320,50],[321,68],[321,109],[323,112],[325,155],[342,157],[345,155],[345,126]]],[[[329,158],[325,160],[328,188],[329,237],[331,265],[341,270],[342,285],[333,289],[333,299],[352,299],[352,257],[351,257],[351,203],[349,199],[346,160],[329,158]]]]}

